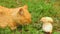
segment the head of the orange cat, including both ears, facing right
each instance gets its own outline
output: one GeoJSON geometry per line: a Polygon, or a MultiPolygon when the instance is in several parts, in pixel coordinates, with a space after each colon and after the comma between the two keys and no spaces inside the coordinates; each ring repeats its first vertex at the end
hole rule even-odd
{"type": "Polygon", "coordinates": [[[31,22],[31,14],[28,11],[28,6],[24,5],[22,7],[17,8],[15,12],[15,20],[21,25],[29,24],[31,22]]]}

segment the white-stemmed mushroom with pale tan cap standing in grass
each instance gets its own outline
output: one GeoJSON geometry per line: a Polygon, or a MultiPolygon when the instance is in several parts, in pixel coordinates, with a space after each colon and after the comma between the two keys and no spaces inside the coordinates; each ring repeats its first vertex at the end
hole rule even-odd
{"type": "Polygon", "coordinates": [[[46,34],[51,34],[53,29],[53,19],[51,17],[42,17],[40,21],[43,22],[43,31],[46,32],[46,34]]]}

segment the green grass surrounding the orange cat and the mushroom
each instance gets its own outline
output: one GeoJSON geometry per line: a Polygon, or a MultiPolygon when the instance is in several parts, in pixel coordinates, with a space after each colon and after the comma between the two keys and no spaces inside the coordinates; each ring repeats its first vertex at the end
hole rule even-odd
{"type": "Polygon", "coordinates": [[[6,29],[0,29],[0,34],[43,34],[41,23],[39,22],[39,19],[43,16],[49,16],[55,20],[55,23],[53,23],[53,34],[60,34],[60,31],[57,31],[60,30],[60,10],[58,10],[60,6],[57,5],[58,8],[55,8],[55,2],[58,2],[58,0],[0,0],[0,5],[8,8],[15,8],[27,4],[28,10],[32,15],[32,23],[28,26],[23,26],[22,33],[17,29],[16,31],[11,31],[7,27],[6,29]],[[25,31],[26,29],[29,31],[25,31]]]}

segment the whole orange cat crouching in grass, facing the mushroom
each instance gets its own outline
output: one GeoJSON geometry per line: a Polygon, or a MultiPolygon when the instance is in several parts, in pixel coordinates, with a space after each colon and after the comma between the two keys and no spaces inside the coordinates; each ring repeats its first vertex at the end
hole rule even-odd
{"type": "Polygon", "coordinates": [[[28,12],[27,5],[18,8],[6,8],[0,6],[0,27],[9,26],[12,30],[16,29],[17,24],[27,25],[31,22],[31,14],[28,12]]]}

